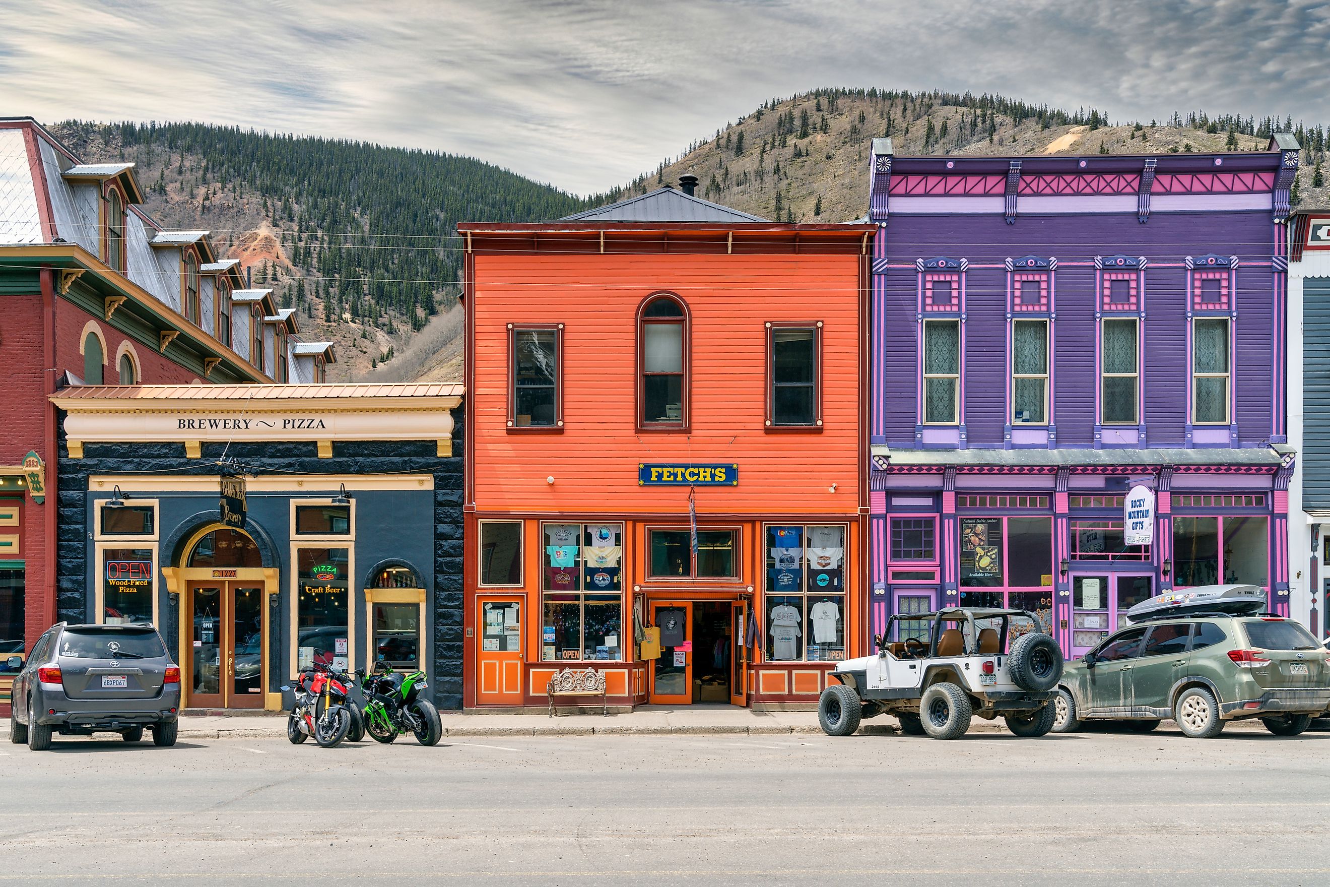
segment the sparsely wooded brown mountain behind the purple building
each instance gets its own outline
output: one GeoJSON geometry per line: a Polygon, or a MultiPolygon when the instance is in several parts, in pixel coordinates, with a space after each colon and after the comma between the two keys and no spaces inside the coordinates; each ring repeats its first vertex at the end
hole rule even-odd
{"type": "Polygon", "coordinates": [[[1298,197],[1327,201],[1318,165],[1327,128],[1275,117],[1174,113],[1164,121],[1111,124],[1099,110],[1075,113],[1001,96],[879,89],[817,89],[770,100],[717,129],[618,197],[698,177],[698,193],[773,221],[843,222],[868,207],[868,154],[890,136],[903,154],[1150,154],[1264,150],[1273,130],[1293,130],[1306,149],[1298,197]]]}

